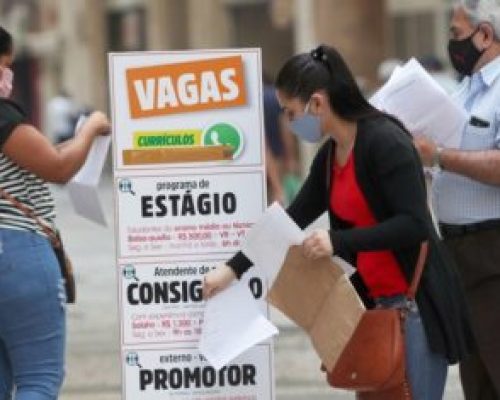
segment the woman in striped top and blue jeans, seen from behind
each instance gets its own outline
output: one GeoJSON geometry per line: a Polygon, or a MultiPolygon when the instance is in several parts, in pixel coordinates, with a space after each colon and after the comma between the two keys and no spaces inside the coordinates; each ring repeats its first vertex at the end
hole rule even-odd
{"type": "MultiPolygon", "coordinates": [[[[53,147],[8,99],[12,47],[0,27],[0,187],[53,226],[54,200],[45,182],[67,182],[110,125],[95,112],[77,137],[53,147]]],[[[57,399],[64,377],[65,301],[48,237],[33,218],[0,198],[0,399],[57,399]]]]}

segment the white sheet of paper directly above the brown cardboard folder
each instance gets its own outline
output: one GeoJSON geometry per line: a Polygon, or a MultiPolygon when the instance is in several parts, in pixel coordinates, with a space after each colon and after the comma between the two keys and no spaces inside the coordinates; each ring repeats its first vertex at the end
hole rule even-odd
{"type": "Polygon", "coordinates": [[[262,269],[271,286],[283,264],[288,248],[301,244],[304,238],[304,232],[275,202],[247,233],[242,251],[262,269]]]}

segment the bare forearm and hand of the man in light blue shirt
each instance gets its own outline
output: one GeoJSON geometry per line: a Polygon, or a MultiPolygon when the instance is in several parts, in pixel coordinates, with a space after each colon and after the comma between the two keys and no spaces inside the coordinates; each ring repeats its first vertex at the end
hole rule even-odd
{"type": "Polygon", "coordinates": [[[500,150],[441,149],[429,138],[420,136],[414,140],[422,163],[431,167],[436,161],[441,168],[476,181],[500,186],[500,150]]]}

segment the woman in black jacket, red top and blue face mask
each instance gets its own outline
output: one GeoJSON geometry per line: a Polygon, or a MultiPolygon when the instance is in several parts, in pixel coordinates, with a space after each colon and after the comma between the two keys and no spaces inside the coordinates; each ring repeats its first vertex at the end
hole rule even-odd
{"type": "MultiPolygon", "coordinates": [[[[292,57],[276,81],[291,130],[319,142],[310,173],[287,209],[305,228],[328,211],[330,230],[303,243],[306,257],[338,255],[357,267],[356,288],[369,302],[404,304],[420,244],[429,254],[406,322],[407,374],[413,399],[442,398],[448,363],[473,345],[457,276],[443,254],[426,200],[422,166],[411,138],[394,118],[362,96],[339,53],[320,46],[292,57]]],[[[243,253],[210,272],[210,297],[240,277],[243,253]]]]}

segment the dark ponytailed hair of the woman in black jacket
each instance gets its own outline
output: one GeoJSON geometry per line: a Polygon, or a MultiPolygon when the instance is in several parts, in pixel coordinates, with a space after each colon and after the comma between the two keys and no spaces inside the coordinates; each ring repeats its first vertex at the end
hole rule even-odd
{"type": "Polygon", "coordinates": [[[278,73],[276,88],[303,102],[325,90],[332,110],[348,121],[382,114],[363,97],[339,52],[326,45],[290,58],[278,73]]]}

